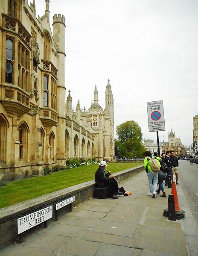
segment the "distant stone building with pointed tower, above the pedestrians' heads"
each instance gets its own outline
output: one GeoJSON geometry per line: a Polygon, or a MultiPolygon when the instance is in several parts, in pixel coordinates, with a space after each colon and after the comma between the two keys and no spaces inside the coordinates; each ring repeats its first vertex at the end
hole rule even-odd
{"type": "Polygon", "coordinates": [[[168,141],[162,142],[162,150],[164,153],[166,153],[166,151],[173,150],[175,151],[176,156],[184,156],[186,154],[181,139],[175,137],[175,132],[173,132],[172,129],[171,132],[169,132],[168,141]]]}

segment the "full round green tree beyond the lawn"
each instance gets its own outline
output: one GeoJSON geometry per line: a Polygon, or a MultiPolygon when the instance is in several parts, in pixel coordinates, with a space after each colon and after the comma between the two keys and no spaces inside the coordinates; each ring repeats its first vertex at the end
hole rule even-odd
{"type": "Polygon", "coordinates": [[[135,121],[126,121],[116,127],[118,139],[116,146],[119,147],[119,156],[133,158],[134,156],[143,157],[146,151],[142,144],[142,130],[135,121]]]}

